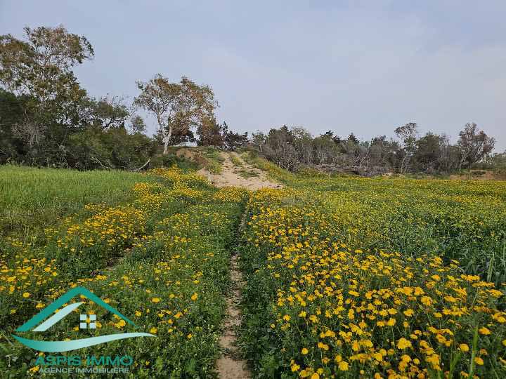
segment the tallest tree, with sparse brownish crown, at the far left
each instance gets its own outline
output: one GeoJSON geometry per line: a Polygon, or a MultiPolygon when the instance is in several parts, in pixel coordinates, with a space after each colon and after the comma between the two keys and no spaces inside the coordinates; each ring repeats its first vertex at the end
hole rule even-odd
{"type": "Polygon", "coordinates": [[[44,138],[65,138],[62,128],[72,126],[86,91],[79,86],[72,67],[93,57],[84,36],[70,34],[63,26],[25,27],[27,41],[11,34],[0,36],[0,84],[17,96],[26,96],[25,117],[13,126],[30,148],[44,138]]]}

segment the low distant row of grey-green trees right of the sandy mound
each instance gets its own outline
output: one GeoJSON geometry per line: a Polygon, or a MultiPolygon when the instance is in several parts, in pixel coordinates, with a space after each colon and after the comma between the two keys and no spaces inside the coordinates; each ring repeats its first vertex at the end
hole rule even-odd
{"type": "MultiPolygon", "coordinates": [[[[459,171],[486,159],[491,161],[495,143],[474,123],[465,125],[455,145],[444,134],[429,132],[420,137],[415,123],[399,126],[395,133],[398,140],[382,135],[361,141],[353,133],[342,138],[327,131],[313,137],[304,128],[282,126],[267,134],[253,133],[251,142],[265,157],[290,171],[311,167],[361,174],[459,171]]],[[[495,161],[500,157],[505,154],[495,154],[495,161]]]]}

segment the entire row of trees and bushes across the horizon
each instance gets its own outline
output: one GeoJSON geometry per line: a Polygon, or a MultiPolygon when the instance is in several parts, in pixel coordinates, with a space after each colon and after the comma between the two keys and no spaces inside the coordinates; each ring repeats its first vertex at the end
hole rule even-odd
{"type": "Polygon", "coordinates": [[[214,91],[188,77],[172,82],[161,74],[137,81],[138,94],[93,98],[73,69],[94,56],[84,36],[65,27],[25,27],[25,39],[0,36],[0,163],[37,166],[134,169],[169,153],[181,142],[234,150],[248,145],[290,171],[303,167],[358,173],[441,173],[477,162],[498,164],[494,139],[466,124],[456,144],[447,135],[426,133],[408,123],[385,135],[358,140],[333,131],[313,137],[304,128],[282,126],[268,133],[236,133],[216,121],[214,91]],[[157,122],[145,135],[140,110],[157,122]]]}

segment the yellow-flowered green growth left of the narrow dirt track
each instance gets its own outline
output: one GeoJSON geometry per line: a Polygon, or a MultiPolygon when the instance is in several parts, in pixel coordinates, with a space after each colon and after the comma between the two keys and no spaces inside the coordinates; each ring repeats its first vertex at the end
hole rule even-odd
{"type": "MultiPolygon", "coordinates": [[[[5,171],[11,175],[8,183],[13,182],[15,172],[5,171]]],[[[90,176],[68,171],[50,175],[67,182],[72,182],[72,177],[85,180],[90,176]]],[[[70,217],[62,225],[46,227],[46,242],[39,246],[15,237],[2,240],[0,348],[8,359],[0,360],[0,369],[11,377],[25,375],[29,369],[37,372],[37,354],[13,344],[8,336],[57,296],[84,285],[131,316],[144,331],[157,335],[149,344],[141,340],[108,343],[93,347],[90,354],[131,355],[135,361],[131,377],[135,378],[167,373],[172,377],[209,375],[219,353],[217,336],[228,286],[228,246],[238,227],[245,192],[216,191],[204,179],[177,168],[142,177],[129,173],[102,175],[103,182],[117,182],[117,175],[123,175],[124,187],[136,176],[124,202],[84,205],[87,218],[70,217]]],[[[21,178],[32,180],[30,175],[21,178]]],[[[51,180],[46,182],[50,184],[51,180]]],[[[51,192],[51,187],[45,191],[51,192]]],[[[63,195],[65,191],[60,187],[57,193],[63,195]]],[[[39,199],[44,199],[42,192],[39,199]]],[[[100,190],[96,194],[100,201],[100,190]]],[[[79,196],[79,192],[72,196],[79,201],[92,197],[79,196]]],[[[30,211],[31,206],[18,201],[11,208],[30,211]]],[[[93,304],[89,306],[104,332],[131,329],[123,320],[93,304]]],[[[69,338],[69,333],[77,338],[76,317],[78,314],[61,321],[64,327],[52,331],[51,339],[69,338]]],[[[40,338],[41,333],[33,334],[32,338],[40,338]]]]}

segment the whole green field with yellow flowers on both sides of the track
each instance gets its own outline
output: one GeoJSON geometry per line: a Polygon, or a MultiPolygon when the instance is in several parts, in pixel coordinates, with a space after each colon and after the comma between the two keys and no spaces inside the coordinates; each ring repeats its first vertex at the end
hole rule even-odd
{"type": "MultiPolygon", "coordinates": [[[[0,371],[44,377],[10,335],[86,286],[157,335],[88,354],[130,355],[132,378],[216,375],[237,252],[254,377],[506,376],[506,182],[294,175],[241,157],[285,187],[216,189],[189,166],[1,167],[0,371]]],[[[96,312],[100,332],[131,330],[96,312]]]]}

